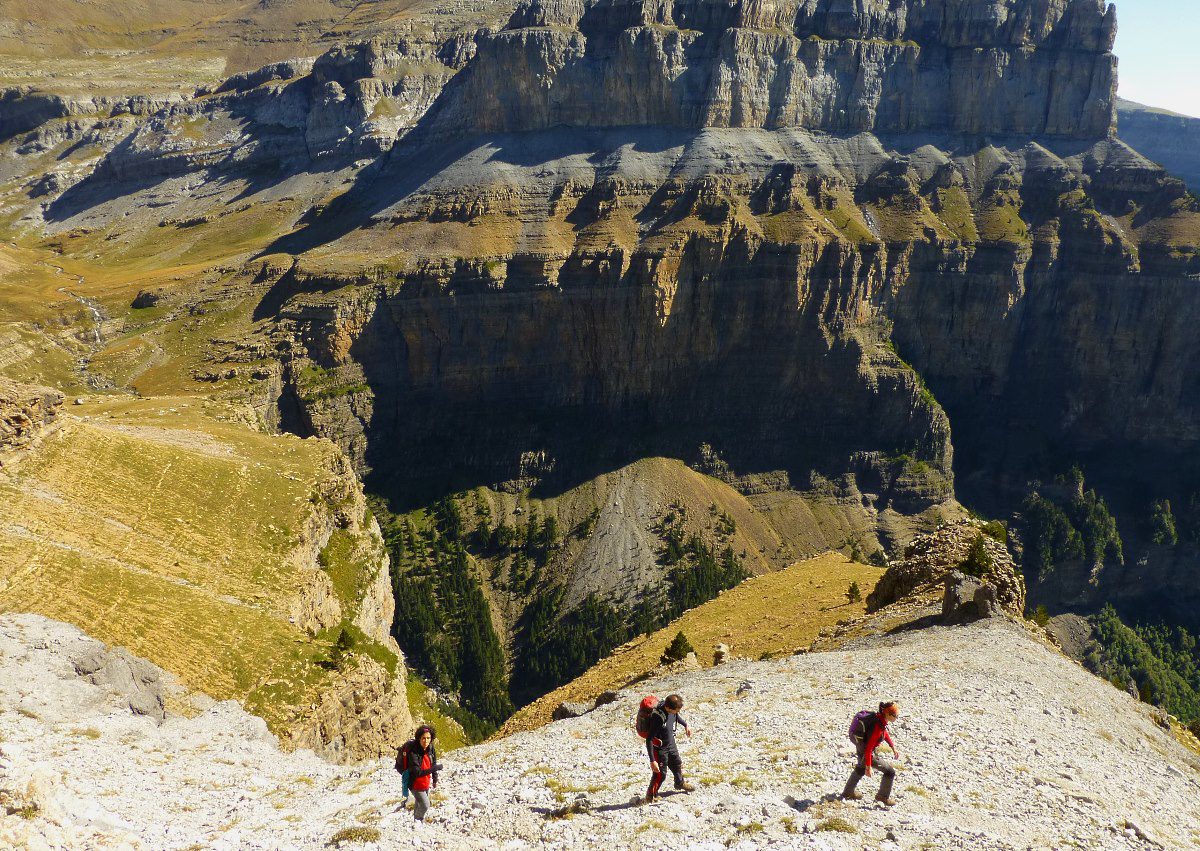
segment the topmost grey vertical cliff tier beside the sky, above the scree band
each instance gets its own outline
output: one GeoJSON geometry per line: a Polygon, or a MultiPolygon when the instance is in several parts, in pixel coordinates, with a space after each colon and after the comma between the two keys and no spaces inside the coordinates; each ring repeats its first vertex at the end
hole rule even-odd
{"type": "Polygon", "coordinates": [[[653,125],[1092,139],[1112,125],[1115,28],[1103,0],[527,0],[480,38],[433,132],[653,125]]]}

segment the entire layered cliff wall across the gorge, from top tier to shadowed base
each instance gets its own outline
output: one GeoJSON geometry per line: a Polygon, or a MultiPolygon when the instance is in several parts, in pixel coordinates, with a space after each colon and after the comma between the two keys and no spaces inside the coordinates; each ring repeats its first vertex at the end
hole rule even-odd
{"type": "Polygon", "coordinates": [[[1048,457],[1200,481],[1200,208],[1112,137],[1106,4],[512,6],[52,121],[8,203],[164,263],[275,210],[222,356],[415,503],[648,455],[880,526],[1048,457]]]}

